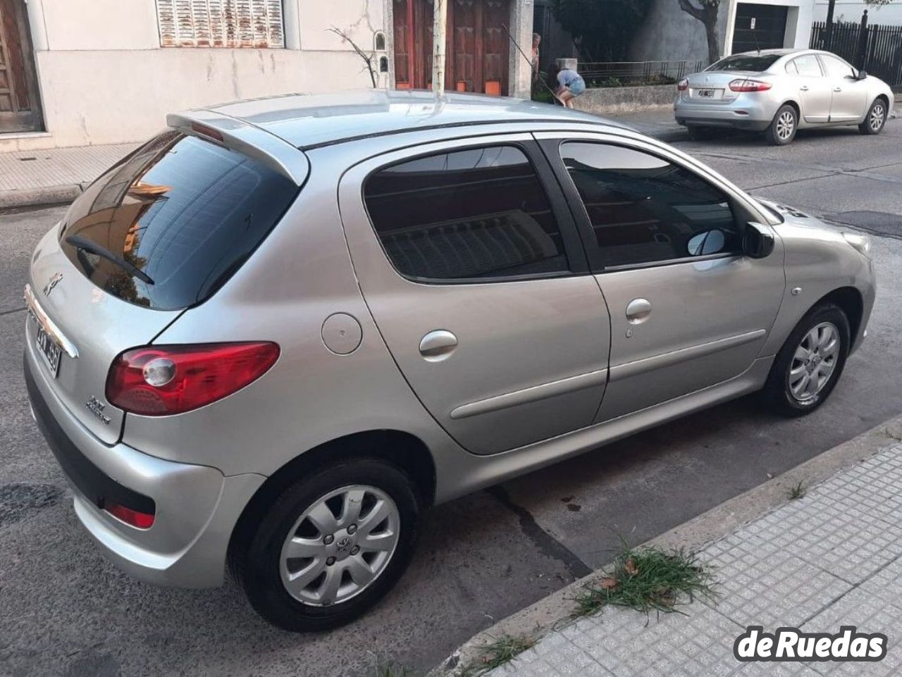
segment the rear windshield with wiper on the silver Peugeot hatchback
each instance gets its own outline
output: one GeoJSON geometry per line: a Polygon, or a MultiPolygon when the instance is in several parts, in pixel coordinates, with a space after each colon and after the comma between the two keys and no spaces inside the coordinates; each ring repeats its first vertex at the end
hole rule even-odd
{"type": "Polygon", "coordinates": [[[298,193],[258,160],[167,131],[69,207],[60,245],[107,293],[158,310],[194,306],[238,270],[298,193]]]}

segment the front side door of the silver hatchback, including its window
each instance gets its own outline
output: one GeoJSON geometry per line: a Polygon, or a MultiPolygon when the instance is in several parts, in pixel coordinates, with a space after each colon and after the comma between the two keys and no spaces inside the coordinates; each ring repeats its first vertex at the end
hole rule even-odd
{"type": "Polygon", "coordinates": [[[764,259],[741,253],[745,224],[761,220],[750,201],[648,142],[575,133],[542,144],[611,312],[609,384],[596,420],[748,370],[785,288],[779,241],[764,259]]]}

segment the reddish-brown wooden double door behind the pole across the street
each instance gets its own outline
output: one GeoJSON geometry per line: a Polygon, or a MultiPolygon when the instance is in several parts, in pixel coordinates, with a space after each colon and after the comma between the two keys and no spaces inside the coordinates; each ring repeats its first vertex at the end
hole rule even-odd
{"type": "MultiPolygon", "coordinates": [[[[395,87],[432,87],[431,0],[394,0],[395,87]]],[[[445,88],[508,93],[510,0],[449,0],[445,88]]]]}

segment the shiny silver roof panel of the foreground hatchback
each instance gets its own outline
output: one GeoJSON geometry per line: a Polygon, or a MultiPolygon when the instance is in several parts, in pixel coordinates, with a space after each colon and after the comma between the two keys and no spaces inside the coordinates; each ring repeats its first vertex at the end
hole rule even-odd
{"type": "MultiPolygon", "coordinates": [[[[369,136],[474,124],[562,122],[630,129],[563,106],[504,96],[369,89],[292,94],[212,106],[206,111],[261,128],[300,149],[369,136]]],[[[200,113],[197,111],[196,113],[200,113]]]]}

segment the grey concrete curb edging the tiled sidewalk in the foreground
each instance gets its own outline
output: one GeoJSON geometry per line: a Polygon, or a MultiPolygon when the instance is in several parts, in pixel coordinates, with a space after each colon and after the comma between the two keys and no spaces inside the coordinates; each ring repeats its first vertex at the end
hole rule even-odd
{"type": "MultiPolygon", "coordinates": [[[[896,416],[652,538],[644,545],[655,545],[665,550],[698,549],[704,544],[731,534],[740,526],[785,503],[787,490],[798,482],[804,482],[805,487],[810,487],[832,477],[843,468],[878,453],[889,444],[897,443],[900,439],[902,439],[902,416],[896,416]]],[[[586,585],[596,581],[602,572],[603,569],[590,573],[474,635],[442,664],[429,671],[427,677],[457,677],[465,666],[479,661],[486,645],[504,636],[529,636],[538,639],[551,630],[565,626],[573,618],[571,616],[574,608],[573,599],[586,585]]]]}

